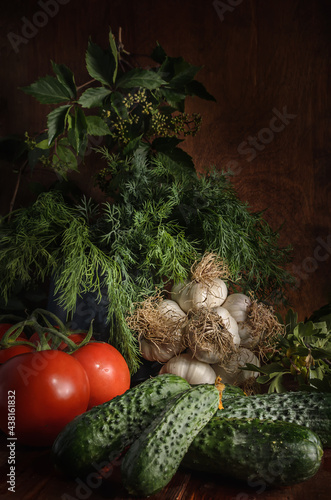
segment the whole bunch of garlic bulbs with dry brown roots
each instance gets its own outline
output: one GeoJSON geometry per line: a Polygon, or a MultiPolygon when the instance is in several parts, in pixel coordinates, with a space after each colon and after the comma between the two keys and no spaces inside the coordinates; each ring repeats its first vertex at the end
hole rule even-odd
{"type": "Polygon", "coordinates": [[[263,304],[243,293],[229,294],[214,254],[204,256],[190,280],[175,284],[170,297],[147,300],[133,322],[143,358],[162,363],[160,373],[190,384],[213,384],[221,376],[242,386],[258,375],[242,368],[260,366],[257,347],[277,321],[263,304]]]}

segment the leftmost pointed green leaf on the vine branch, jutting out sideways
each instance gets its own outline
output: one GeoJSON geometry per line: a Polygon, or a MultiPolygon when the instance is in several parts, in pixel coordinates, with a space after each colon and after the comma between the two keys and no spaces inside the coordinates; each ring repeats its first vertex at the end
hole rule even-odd
{"type": "Polygon", "coordinates": [[[70,101],[71,92],[54,76],[45,76],[28,87],[22,87],[21,90],[26,94],[32,95],[42,104],[59,104],[70,101]]]}

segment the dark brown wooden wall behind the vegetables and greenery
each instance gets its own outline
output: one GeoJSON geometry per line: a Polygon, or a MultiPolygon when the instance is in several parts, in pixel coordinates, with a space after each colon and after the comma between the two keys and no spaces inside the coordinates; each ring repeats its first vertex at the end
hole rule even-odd
{"type": "MultiPolygon", "coordinates": [[[[45,107],[18,87],[51,73],[51,60],[84,83],[88,37],[105,45],[109,27],[116,34],[122,27],[131,52],[149,54],[158,40],[170,55],[203,66],[198,79],[217,102],[190,101],[203,126],[185,149],[197,168],[232,169],[241,199],[267,209],[274,229],[283,224],[299,317],[331,300],[329,0],[11,0],[1,17],[2,135],[45,127],[45,107]],[[53,9],[46,17],[45,5],[53,9]],[[15,45],[10,33],[25,42],[15,45]]],[[[87,158],[75,176],[88,195],[96,194],[94,168],[87,158]]],[[[1,177],[4,213],[17,176],[3,164],[1,177]]],[[[33,179],[54,180],[41,169],[33,179]]],[[[25,174],[15,206],[30,199],[28,181],[25,174]]]]}

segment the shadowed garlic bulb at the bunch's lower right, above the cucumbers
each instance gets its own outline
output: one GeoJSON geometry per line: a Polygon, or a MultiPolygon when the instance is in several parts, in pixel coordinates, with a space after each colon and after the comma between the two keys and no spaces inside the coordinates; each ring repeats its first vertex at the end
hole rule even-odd
{"type": "Polygon", "coordinates": [[[245,366],[246,363],[260,366],[260,362],[255,354],[249,349],[242,347],[237,353],[232,355],[226,366],[213,364],[212,368],[216,376],[222,378],[224,384],[242,385],[249,378],[259,375],[258,372],[242,370],[241,367],[245,366]]]}

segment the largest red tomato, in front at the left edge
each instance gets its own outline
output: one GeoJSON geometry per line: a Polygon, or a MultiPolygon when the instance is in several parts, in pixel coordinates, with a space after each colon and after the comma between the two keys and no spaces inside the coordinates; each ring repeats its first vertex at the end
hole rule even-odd
{"type": "Polygon", "coordinates": [[[21,354],[0,367],[0,428],[22,444],[51,446],[89,398],[84,368],[65,352],[21,354]]]}

